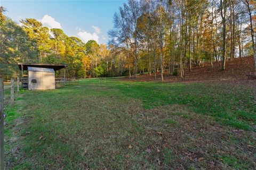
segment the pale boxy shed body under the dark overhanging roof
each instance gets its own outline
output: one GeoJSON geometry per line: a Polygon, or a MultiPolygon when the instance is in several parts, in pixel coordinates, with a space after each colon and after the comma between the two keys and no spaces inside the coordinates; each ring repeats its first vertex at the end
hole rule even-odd
{"type": "Polygon", "coordinates": [[[28,67],[28,89],[55,89],[55,72],[53,69],[28,67]]]}

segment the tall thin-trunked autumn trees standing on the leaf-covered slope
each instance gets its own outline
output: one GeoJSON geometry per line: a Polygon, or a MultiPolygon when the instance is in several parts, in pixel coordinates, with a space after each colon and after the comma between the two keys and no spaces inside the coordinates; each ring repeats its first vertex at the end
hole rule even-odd
{"type": "Polygon", "coordinates": [[[255,55],[256,2],[250,0],[130,0],[115,13],[109,44],[124,53],[130,77],[178,72],[255,55]],[[254,40],[255,39],[255,40],[254,40]]]}

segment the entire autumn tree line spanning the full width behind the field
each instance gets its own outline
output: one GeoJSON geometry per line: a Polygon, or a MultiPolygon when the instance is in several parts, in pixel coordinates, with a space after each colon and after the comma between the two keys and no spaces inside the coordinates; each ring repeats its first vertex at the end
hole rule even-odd
{"type": "Polygon", "coordinates": [[[256,67],[256,2],[253,0],[129,0],[113,17],[108,45],[68,37],[28,18],[17,24],[0,7],[0,76],[17,63],[66,63],[68,77],[138,73],[179,74],[193,66],[225,70],[228,60],[253,55],[256,67]]]}

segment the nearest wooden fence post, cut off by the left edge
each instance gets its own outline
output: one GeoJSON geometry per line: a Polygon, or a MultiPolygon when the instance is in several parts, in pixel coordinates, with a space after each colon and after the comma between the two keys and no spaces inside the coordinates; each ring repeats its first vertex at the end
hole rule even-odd
{"type": "Polygon", "coordinates": [[[4,79],[0,78],[0,170],[4,170],[4,79]]]}

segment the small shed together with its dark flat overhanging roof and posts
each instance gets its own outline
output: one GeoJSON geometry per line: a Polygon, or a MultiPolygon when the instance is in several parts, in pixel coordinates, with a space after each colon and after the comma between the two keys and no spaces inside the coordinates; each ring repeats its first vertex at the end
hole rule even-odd
{"type": "Polygon", "coordinates": [[[64,69],[63,80],[66,82],[68,64],[18,63],[18,66],[21,70],[22,88],[29,90],[55,89],[55,72],[61,69],[64,69]],[[23,71],[28,71],[27,75],[24,75],[23,71]]]}

